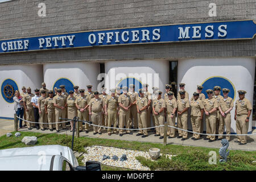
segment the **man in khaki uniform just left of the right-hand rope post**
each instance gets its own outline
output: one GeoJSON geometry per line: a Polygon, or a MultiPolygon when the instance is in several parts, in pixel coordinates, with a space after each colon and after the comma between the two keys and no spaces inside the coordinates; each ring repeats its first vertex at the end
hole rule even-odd
{"type": "MultiPolygon", "coordinates": [[[[158,98],[152,103],[152,110],[155,114],[155,126],[164,125],[164,109],[166,109],[166,102],[163,100],[162,92],[160,90],[155,92],[158,94],[158,98]]],[[[155,137],[160,136],[159,139],[163,139],[164,136],[164,127],[160,126],[155,128],[156,134],[155,137]]]]}

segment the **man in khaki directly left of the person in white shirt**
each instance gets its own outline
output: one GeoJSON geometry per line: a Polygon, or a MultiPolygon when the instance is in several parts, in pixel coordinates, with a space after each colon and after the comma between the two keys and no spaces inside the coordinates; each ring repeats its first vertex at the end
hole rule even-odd
{"type": "MultiPolygon", "coordinates": [[[[27,117],[26,120],[27,121],[32,121],[32,122],[35,122],[34,108],[32,106],[32,102],[31,102],[31,99],[34,96],[35,96],[35,94],[31,93],[31,88],[28,87],[27,88],[27,94],[22,98],[23,106],[24,106],[24,109],[26,111],[26,117],[27,117]]],[[[28,130],[31,130],[31,127],[32,126],[34,127],[35,123],[28,122],[27,126],[28,126],[28,130]]]]}

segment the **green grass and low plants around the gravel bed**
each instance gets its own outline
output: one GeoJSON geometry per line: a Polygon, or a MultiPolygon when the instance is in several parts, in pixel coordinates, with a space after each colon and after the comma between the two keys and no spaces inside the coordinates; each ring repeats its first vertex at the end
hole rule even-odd
{"type": "MultiPolygon", "coordinates": [[[[20,132],[21,137],[16,138],[14,136],[6,137],[6,135],[0,137],[0,150],[6,148],[15,147],[27,147],[21,142],[24,136],[35,136],[38,138],[38,143],[35,146],[47,145],[47,144],[60,144],[63,146],[71,147],[72,136],[65,134],[42,134],[32,132],[20,132]]],[[[123,140],[113,139],[98,139],[98,138],[75,138],[74,140],[74,151],[85,152],[84,147],[86,146],[108,146],[126,148],[131,150],[148,151],[152,147],[160,149],[162,154],[172,154],[172,160],[166,158],[164,155],[156,160],[155,162],[144,158],[143,156],[137,157],[137,160],[143,164],[143,166],[149,167],[151,170],[256,170],[256,163],[251,163],[256,160],[256,152],[252,151],[230,151],[227,163],[220,163],[220,156],[218,155],[217,148],[206,148],[206,147],[189,147],[179,146],[174,144],[168,144],[164,146],[160,143],[147,143],[147,142],[129,142],[123,140]],[[210,151],[216,151],[217,153],[217,164],[209,164],[208,155],[210,151]]],[[[81,165],[81,159],[78,159],[81,165]]],[[[102,165],[102,170],[127,170],[124,168],[110,167],[102,165]]]]}

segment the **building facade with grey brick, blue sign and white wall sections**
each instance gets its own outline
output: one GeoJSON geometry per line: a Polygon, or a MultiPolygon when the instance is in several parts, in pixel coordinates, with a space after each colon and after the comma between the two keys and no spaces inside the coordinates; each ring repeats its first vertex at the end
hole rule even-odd
{"type": "Polygon", "coordinates": [[[234,101],[246,90],[255,108],[255,7],[254,0],[0,1],[0,117],[14,114],[9,86],[34,90],[43,81],[51,90],[147,82],[150,92],[175,81],[189,97],[196,85],[218,85],[234,101]]]}

